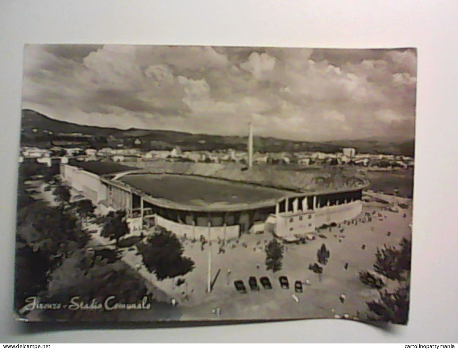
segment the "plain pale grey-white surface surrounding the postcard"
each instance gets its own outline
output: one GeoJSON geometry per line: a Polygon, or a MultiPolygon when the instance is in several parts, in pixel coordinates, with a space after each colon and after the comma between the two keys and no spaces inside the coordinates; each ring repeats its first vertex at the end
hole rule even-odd
{"type": "Polygon", "coordinates": [[[458,342],[458,2],[455,0],[0,1],[0,342],[458,342]],[[410,322],[153,328],[19,324],[11,312],[25,43],[417,47],[410,322]]]}

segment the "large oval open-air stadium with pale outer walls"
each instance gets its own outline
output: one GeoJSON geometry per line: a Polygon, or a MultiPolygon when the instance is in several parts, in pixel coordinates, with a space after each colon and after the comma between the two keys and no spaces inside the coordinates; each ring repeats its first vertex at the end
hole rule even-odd
{"type": "Polygon", "coordinates": [[[323,172],[152,162],[144,168],[70,161],[62,179],[106,210],[125,210],[132,232],[153,224],[208,240],[272,232],[294,238],[362,210],[368,182],[323,172]]]}

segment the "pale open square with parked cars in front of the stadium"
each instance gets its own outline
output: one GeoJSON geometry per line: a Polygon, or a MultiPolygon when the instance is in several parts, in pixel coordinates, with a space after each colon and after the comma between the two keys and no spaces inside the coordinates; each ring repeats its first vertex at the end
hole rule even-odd
{"type": "MultiPolygon", "coordinates": [[[[409,199],[383,197],[393,202],[410,203],[409,199]]],[[[343,233],[340,233],[338,228],[331,231],[327,229],[322,231],[327,239],[317,237],[316,240],[308,241],[306,245],[285,245],[283,269],[277,273],[265,270],[264,245],[272,239],[267,234],[244,235],[238,243],[234,243],[234,248],[226,248],[224,254],[218,254],[219,246],[216,244],[211,247],[206,245],[201,251],[198,242],[185,242],[184,254],[196,262],[195,270],[185,276],[187,285],[173,287],[172,280],[156,284],[180,300],[182,319],[310,318],[344,314],[356,316],[357,311],[366,312],[365,302],[377,296],[376,291],[360,282],[358,272],[362,269],[372,269],[378,246],[398,245],[402,237],[409,237],[411,234],[411,206],[408,209],[398,207],[399,213],[382,210],[382,207],[379,203],[365,203],[360,217],[364,217],[365,212],[370,212],[372,221],[343,225],[343,233]],[[376,214],[372,215],[374,210],[376,214]],[[403,213],[406,214],[406,218],[403,218],[403,213]],[[379,214],[382,217],[378,217],[379,214]],[[390,236],[387,236],[388,231],[392,233],[390,236]],[[339,242],[339,236],[344,236],[342,242],[339,242]],[[247,247],[242,245],[244,243],[247,247]],[[317,275],[308,270],[308,265],[310,262],[316,262],[316,251],[322,243],[326,244],[331,256],[324,266],[320,282],[317,275]],[[363,244],[364,250],[361,249],[363,244]],[[219,269],[221,272],[214,283],[213,291],[207,294],[209,248],[212,250],[212,278],[219,269]],[[349,263],[348,270],[344,269],[345,263],[349,263]],[[228,269],[231,271],[229,278],[228,269]],[[243,280],[248,288],[248,278],[251,275],[256,278],[268,276],[273,289],[259,292],[248,290],[247,294],[238,294],[234,289],[234,280],[243,280]],[[294,299],[294,289],[284,290],[279,287],[280,275],[288,276],[291,286],[295,280],[310,281],[310,285],[304,285],[304,293],[295,294],[299,302],[294,299]],[[185,295],[191,293],[190,299],[186,300],[182,292],[185,292],[185,295]],[[342,293],[347,297],[344,304],[339,300],[342,293]],[[221,308],[220,316],[212,313],[217,307],[221,308]]],[[[396,287],[397,284],[388,286],[396,287]]]]}

